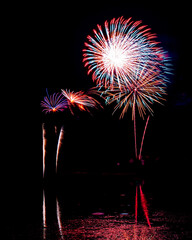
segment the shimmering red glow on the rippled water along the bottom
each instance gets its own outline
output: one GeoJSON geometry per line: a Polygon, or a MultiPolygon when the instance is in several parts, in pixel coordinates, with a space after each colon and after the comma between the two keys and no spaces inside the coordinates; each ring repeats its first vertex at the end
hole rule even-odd
{"type": "MultiPolygon", "coordinates": [[[[144,222],[135,224],[131,217],[120,217],[118,215],[107,216],[87,216],[64,218],[62,226],[54,228],[49,226],[52,236],[47,235],[46,240],[173,240],[190,239],[191,230],[183,231],[182,221],[186,223],[188,219],[181,219],[180,216],[171,216],[167,212],[155,212],[153,214],[153,226],[149,228],[144,222]],[[178,228],[180,224],[180,229],[178,228]],[[177,225],[177,229],[174,225],[177,225]],[[54,236],[53,236],[54,234],[54,236]]],[[[61,220],[60,220],[61,221],[61,220]]],[[[59,221],[57,221],[59,224],[59,221]]],[[[38,239],[38,238],[37,238],[38,239]]]]}

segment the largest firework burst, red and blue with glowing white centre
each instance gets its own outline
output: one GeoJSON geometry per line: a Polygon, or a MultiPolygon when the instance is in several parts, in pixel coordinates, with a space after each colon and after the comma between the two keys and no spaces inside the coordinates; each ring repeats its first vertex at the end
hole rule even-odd
{"type": "Polygon", "coordinates": [[[93,81],[105,88],[122,81],[132,84],[130,79],[139,69],[147,66],[161,77],[168,71],[166,52],[158,46],[156,35],[142,21],[125,20],[123,17],[105,21],[104,31],[100,25],[93,30],[94,37],[88,36],[83,49],[84,66],[93,81]]]}

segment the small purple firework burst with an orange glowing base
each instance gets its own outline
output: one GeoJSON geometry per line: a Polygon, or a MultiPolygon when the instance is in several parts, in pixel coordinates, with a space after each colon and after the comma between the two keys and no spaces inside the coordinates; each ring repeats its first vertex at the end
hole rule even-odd
{"type": "Polygon", "coordinates": [[[44,97],[44,101],[41,101],[41,107],[43,108],[42,111],[45,113],[62,112],[68,107],[68,104],[62,94],[54,93],[49,96],[47,92],[47,97],[44,97]]]}

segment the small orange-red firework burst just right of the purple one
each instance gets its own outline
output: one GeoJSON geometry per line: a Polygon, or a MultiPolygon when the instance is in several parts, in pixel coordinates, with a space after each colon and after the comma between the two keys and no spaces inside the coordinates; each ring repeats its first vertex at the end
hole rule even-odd
{"type": "Polygon", "coordinates": [[[77,106],[81,111],[89,111],[88,107],[96,108],[100,105],[99,102],[93,97],[85,94],[83,91],[74,92],[70,90],[61,90],[62,94],[68,101],[68,105],[72,114],[72,107],[77,106]]]}

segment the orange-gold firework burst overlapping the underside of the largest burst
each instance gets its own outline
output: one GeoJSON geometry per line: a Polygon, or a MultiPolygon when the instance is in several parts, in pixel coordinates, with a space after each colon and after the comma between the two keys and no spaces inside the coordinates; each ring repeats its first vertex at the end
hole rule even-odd
{"type": "Polygon", "coordinates": [[[136,107],[139,115],[144,119],[146,110],[153,114],[150,105],[154,102],[160,104],[161,100],[165,100],[162,95],[166,94],[166,82],[159,78],[157,72],[147,71],[143,68],[135,74],[135,79],[132,83],[121,83],[119,86],[114,86],[113,89],[108,88],[105,91],[98,91],[105,99],[106,103],[111,104],[117,102],[114,112],[122,108],[120,118],[123,118],[128,108],[132,108],[132,119],[135,117],[136,107]]]}

